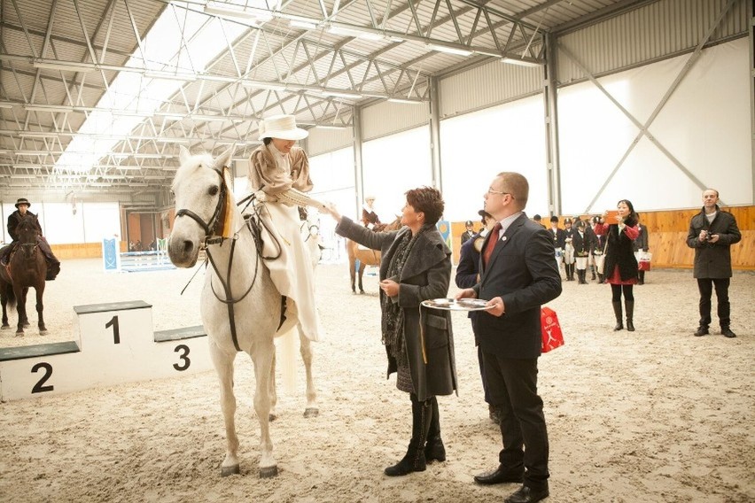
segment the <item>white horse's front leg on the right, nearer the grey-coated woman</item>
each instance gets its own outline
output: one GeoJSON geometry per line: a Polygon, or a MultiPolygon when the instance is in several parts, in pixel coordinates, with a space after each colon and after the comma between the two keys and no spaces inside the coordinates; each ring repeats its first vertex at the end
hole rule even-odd
{"type": "Polygon", "coordinates": [[[260,478],[278,475],[278,465],[273,456],[273,442],[270,440],[270,397],[268,394],[270,367],[275,352],[276,344],[270,337],[269,340],[258,341],[252,353],[254,377],[257,381],[257,389],[254,392],[254,411],[260,421],[260,478]]]}

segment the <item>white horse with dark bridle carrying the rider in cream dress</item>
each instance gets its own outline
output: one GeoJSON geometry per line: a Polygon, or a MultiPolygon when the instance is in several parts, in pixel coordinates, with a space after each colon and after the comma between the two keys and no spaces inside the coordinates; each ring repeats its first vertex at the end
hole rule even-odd
{"type": "MultiPolygon", "coordinates": [[[[254,219],[245,221],[233,203],[227,168],[231,151],[217,159],[209,154],[191,156],[183,146],[181,166],[175,174],[175,223],[168,242],[168,256],[177,267],[193,267],[200,250],[206,250],[208,274],[201,295],[200,312],[207,332],[210,354],[220,380],[221,408],[226,431],[226,455],[221,475],[239,473],[238,437],[233,394],[233,363],[240,351],[254,364],[256,390],[254,410],[260,421],[260,476],[277,475],[276,459],[269,435],[271,403],[275,400],[274,337],[297,324],[290,314],[279,327],[282,297],[270,279],[260,256],[254,219]],[[230,237],[223,228],[232,221],[230,237]],[[271,399],[271,396],[273,399],[271,399]]],[[[301,354],[307,369],[307,410],[316,415],[312,383],[312,352],[307,337],[300,337],[301,354]]]]}

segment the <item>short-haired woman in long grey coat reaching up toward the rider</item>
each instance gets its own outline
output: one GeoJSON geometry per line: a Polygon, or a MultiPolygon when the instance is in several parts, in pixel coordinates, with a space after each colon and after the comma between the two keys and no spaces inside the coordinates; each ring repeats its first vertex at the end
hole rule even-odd
{"type": "Polygon", "coordinates": [[[397,372],[396,387],[409,393],[412,435],[406,455],[385,468],[387,476],[424,471],[428,461],[446,460],[440,439],[437,395],[456,389],[454,340],[448,311],[420,304],[446,298],[451,281],[451,251],[435,228],[443,213],[440,191],[409,190],[399,230],[371,232],[342,217],[331,206],[339,236],[380,250],[380,306],[388,375],[397,372]]]}

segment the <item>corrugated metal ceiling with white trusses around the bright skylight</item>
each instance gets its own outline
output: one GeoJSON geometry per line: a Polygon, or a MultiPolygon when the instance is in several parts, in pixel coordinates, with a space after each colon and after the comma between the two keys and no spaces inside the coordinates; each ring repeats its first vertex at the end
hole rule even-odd
{"type": "MultiPolygon", "coordinates": [[[[177,144],[161,142],[162,138],[187,139],[194,150],[219,151],[234,144],[233,157],[243,158],[255,147],[257,121],[266,115],[294,113],[308,125],[348,125],[352,105],[363,99],[407,97],[412,90],[412,98],[426,100],[427,79],[432,75],[448,74],[457,66],[490,60],[495,54],[521,55],[525,48],[530,50],[529,58],[539,58],[543,33],[648,0],[291,0],[270,12],[272,19],[264,22],[204,13],[208,4],[222,8],[239,3],[243,0],[16,0],[0,4],[0,194],[35,190],[123,193],[136,182],[146,182],[147,187],[140,190],[160,197],[167,193],[177,166],[177,144]],[[336,4],[338,12],[333,11],[336,4]],[[95,171],[78,180],[58,177],[59,156],[130,56],[141,54],[144,35],[163,12],[175,16],[176,22],[189,13],[201,13],[207,28],[220,24],[225,34],[243,29],[241,35],[217,40],[219,53],[205,72],[183,83],[157,112],[123,135],[113,151],[128,156],[106,156],[95,171]],[[296,21],[314,26],[295,26],[296,21]],[[341,30],[331,33],[333,28],[341,30]],[[372,39],[363,38],[370,35],[372,39]],[[476,52],[448,54],[429,49],[427,43],[476,52]],[[68,68],[90,66],[93,71],[46,65],[55,62],[68,68]],[[288,87],[270,90],[245,85],[253,81],[288,87]],[[339,90],[354,96],[328,94],[339,90]],[[29,110],[33,104],[53,109],[29,110]],[[42,153],[19,155],[19,151],[42,153]],[[153,155],[160,157],[151,159],[153,155]],[[35,178],[19,182],[13,174],[34,174],[35,178]],[[104,180],[110,187],[102,186],[104,180]]],[[[191,70],[191,54],[174,57],[172,63],[165,63],[178,61],[182,72],[191,70]]],[[[146,96],[148,89],[141,91],[146,96]]]]}

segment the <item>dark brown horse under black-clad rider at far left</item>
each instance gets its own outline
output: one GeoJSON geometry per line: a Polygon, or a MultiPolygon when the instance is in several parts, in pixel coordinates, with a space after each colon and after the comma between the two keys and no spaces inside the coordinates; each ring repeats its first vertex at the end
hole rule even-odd
{"type": "Polygon", "coordinates": [[[44,278],[47,275],[47,260],[37,246],[39,238],[39,224],[34,215],[27,215],[19,221],[16,228],[19,242],[16,250],[12,251],[7,266],[0,265],[0,304],[3,305],[3,329],[9,329],[8,313],[5,306],[16,306],[19,313],[19,325],[16,337],[24,335],[24,326],[28,326],[27,293],[29,287],[36,291],[36,313],[39,319],[39,333],[44,335],[42,296],[44,293],[44,278]]]}

